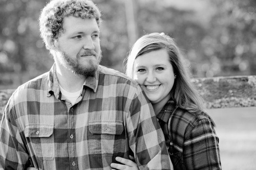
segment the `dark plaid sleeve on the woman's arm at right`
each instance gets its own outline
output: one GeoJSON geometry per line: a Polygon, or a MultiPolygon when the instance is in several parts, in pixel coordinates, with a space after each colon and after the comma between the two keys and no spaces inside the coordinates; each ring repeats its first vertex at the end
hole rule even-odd
{"type": "Polygon", "coordinates": [[[183,160],[188,170],[220,170],[219,138],[210,119],[202,119],[185,136],[183,160]]]}

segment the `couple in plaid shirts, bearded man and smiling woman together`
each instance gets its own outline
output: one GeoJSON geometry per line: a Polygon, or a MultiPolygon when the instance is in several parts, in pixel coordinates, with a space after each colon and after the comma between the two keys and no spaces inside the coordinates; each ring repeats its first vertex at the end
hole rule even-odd
{"type": "Polygon", "coordinates": [[[214,123],[173,39],[138,39],[128,78],[99,65],[100,22],[90,0],[44,7],[40,32],[55,63],[8,101],[0,169],[220,169],[214,123]]]}

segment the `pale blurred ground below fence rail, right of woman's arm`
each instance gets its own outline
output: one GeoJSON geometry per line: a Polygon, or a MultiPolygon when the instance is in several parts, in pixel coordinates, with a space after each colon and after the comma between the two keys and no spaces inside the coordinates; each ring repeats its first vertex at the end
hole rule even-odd
{"type": "Polygon", "coordinates": [[[256,170],[256,107],[209,109],[223,170],[256,170]]]}

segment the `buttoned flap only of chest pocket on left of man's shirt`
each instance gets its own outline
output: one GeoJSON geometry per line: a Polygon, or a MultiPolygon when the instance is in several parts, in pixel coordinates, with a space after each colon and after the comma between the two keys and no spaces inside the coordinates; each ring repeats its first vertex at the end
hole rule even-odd
{"type": "Polygon", "coordinates": [[[54,125],[28,124],[25,125],[25,137],[50,137],[53,134],[54,125]]]}

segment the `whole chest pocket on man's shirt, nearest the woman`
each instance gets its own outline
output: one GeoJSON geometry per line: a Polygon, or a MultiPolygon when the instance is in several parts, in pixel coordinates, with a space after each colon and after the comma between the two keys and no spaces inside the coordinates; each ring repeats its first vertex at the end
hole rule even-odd
{"type": "Polygon", "coordinates": [[[124,140],[122,121],[89,121],[89,153],[94,157],[115,156],[124,140]]]}

